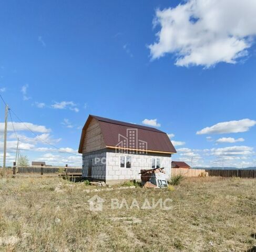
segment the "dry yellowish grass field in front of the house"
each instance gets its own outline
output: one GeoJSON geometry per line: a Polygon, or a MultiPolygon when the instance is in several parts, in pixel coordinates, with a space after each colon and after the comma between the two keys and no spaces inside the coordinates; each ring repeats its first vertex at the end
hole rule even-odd
{"type": "Polygon", "coordinates": [[[0,250],[255,251],[255,179],[188,178],[175,190],[88,188],[96,187],[57,177],[0,178],[0,250]],[[102,212],[89,209],[96,194],[105,200],[102,212]],[[138,205],[112,209],[111,198],[138,205]],[[145,198],[170,198],[172,208],[141,209],[145,198]]]}

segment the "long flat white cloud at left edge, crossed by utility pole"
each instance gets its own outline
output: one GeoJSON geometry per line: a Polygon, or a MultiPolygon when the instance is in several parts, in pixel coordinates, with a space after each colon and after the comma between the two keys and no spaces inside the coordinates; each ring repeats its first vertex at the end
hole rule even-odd
{"type": "MultiPolygon", "coordinates": [[[[13,125],[16,131],[29,131],[28,129],[39,133],[48,133],[51,131],[43,125],[37,125],[30,122],[13,122],[13,125]]],[[[12,123],[8,123],[7,130],[13,131],[13,125],[12,123]]],[[[4,122],[0,122],[0,132],[4,132],[4,122]]]]}

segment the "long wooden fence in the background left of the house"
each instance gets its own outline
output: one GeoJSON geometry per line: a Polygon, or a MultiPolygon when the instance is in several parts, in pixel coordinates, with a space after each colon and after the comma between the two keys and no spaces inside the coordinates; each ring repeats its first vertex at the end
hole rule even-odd
{"type": "Polygon", "coordinates": [[[82,173],[80,167],[62,167],[62,166],[17,166],[16,173],[82,173]]]}

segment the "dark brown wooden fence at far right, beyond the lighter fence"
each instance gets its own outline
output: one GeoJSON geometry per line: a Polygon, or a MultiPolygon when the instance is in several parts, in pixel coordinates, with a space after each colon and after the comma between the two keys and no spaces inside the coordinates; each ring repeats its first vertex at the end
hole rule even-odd
{"type": "Polygon", "coordinates": [[[256,170],[206,170],[209,176],[256,177],[256,170]]]}

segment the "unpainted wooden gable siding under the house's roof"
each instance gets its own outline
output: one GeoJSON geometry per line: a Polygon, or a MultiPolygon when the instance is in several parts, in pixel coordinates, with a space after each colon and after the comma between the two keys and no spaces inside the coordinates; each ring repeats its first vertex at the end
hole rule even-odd
{"type": "Polygon", "coordinates": [[[83,153],[97,151],[106,147],[99,123],[92,119],[85,131],[83,153]]]}

